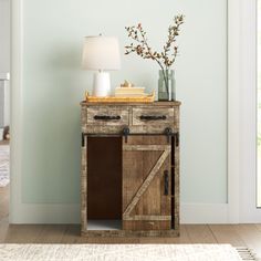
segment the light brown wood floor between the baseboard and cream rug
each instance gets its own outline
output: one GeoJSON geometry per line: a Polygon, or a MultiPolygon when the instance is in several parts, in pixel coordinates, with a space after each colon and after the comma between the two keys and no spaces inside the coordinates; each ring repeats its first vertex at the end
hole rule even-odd
{"type": "Polygon", "coordinates": [[[261,225],[182,225],[179,238],[86,239],[77,225],[9,225],[8,192],[0,189],[0,243],[230,243],[261,257],[261,225]]]}

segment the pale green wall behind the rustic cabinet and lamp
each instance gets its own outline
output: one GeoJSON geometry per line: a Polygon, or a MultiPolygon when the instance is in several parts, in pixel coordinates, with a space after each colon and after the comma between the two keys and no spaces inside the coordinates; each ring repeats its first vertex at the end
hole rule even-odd
{"type": "MultiPolygon", "coordinates": [[[[80,201],[80,101],[92,82],[81,70],[83,36],[116,35],[142,22],[160,46],[176,13],[186,14],[178,58],[181,106],[181,201],[227,201],[226,0],[24,0],[23,202],[80,201]]],[[[158,67],[122,58],[113,85],[128,79],[157,87],[158,67]]],[[[109,177],[108,177],[109,178],[109,177]]]]}

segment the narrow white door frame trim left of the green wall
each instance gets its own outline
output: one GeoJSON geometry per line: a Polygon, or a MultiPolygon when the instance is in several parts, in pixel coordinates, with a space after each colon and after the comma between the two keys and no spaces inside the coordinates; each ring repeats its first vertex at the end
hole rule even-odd
{"type": "Polygon", "coordinates": [[[11,77],[10,77],[10,205],[9,222],[15,223],[23,213],[21,192],[22,168],[22,0],[11,1],[11,77]],[[15,174],[15,175],[14,175],[15,174]]]}

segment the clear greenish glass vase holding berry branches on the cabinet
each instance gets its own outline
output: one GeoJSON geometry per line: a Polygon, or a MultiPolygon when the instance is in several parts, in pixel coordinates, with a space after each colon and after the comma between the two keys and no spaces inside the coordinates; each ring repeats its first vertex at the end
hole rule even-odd
{"type": "Polygon", "coordinates": [[[158,101],[176,101],[174,70],[159,70],[158,101]]]}

